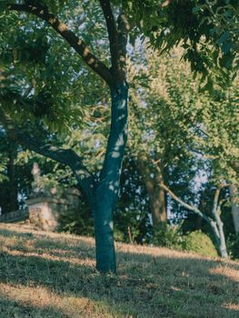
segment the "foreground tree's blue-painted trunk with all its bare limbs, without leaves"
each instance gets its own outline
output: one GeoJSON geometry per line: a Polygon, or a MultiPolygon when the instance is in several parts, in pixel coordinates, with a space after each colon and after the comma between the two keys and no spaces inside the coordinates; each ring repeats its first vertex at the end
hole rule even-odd
{"type": "Polygon", "coordinates": [[[56,146],[42,144],[26,136],[13,124],[12,120],[1,108],[1,120],[5,128],[14,135],[21,144],[25,144],[38,154],[48,156],[60,163],[67,164],[74,171],[79,186],[83,189],[95,218],[96,268],[100,272],[115,273],[115,247],[113,236],[113,208],[119,188],[124,146],[126,143],[127,124],[127,91],[125,81],[125,54],[128,33],[128,23],[124,15],[118,17],[115,24],[109,1],[100,1],[107,25],[112,67],[109,69],[100,62],[86,47],[85,42],[72,33],[65,24],[44,5],[30,2],[23,5],[7,5],[7,10],[27,12],[42,18],[55,31],[75,48],[97,75],[100,75],[109,85],[112,97],[112,124],[108,139],[105,162],[99,178],[90,174],[83,164],[83,158],[73,150],[64,150],[56,146]]]}

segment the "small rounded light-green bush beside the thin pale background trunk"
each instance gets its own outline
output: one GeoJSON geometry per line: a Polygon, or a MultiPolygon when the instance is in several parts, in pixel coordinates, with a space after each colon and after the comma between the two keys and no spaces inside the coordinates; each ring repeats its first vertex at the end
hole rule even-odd
{"type": "Polygon", "coordinates": [[[184,235],[182,248],[184,251],[198,253],[202,256],[218,256],[214,243],[202,231],[194,231],[184,235]]]}

